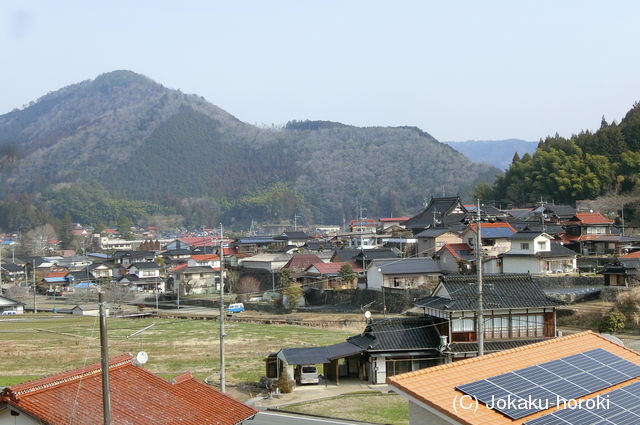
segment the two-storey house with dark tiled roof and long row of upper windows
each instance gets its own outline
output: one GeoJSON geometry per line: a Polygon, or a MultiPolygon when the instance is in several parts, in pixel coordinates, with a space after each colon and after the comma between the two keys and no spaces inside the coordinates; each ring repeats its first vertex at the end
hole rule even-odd
{"type": "MultiPolygon", "coordinates": [[[[559,303],[531,275],[485,275],[483,281],[485,352],[555,337],[559,303]]],[[[415,303],[425,315],[444,320],[439,330],[454,359],[477,355],[477,291],[475,275],[442,276],[431,295],[415,303]]]]}

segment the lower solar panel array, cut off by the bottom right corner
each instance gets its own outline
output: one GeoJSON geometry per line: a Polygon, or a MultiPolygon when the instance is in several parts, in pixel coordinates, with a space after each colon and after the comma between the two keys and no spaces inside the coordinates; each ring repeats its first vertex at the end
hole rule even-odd
{"type": "Polygon", "coordinates": [[[525,422],[526,425],[636,425],[640,424],[640,382],[600,396],[594,408],[565,408],[525,422]],[[609,402],[606,403],[606,400],[609,402]],[[606,403],[606,404],[605,404],[606,403]]]}

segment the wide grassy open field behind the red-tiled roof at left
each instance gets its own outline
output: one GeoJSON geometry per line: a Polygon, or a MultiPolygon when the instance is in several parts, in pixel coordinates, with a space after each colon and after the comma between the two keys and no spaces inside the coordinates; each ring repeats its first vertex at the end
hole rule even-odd
{"type": "MultiPolygon", "coordinates": [[[[220,344],[217,321],[114,319],[107,322],[109,355],[146,351],[146,368],[165,378],[186,370],[200,380],[215,374],[220,344]],[[155,324],[139,335],[133,332],[155,324]]],[[[353,330],[292,325],[226,323],[227,382],[255,382],[265,374],[263,358],[283,347],[342,342],[353,330]]],[[[100,361],[96,317],[25,314],[0,320],[0,386],[100,361]]]]}

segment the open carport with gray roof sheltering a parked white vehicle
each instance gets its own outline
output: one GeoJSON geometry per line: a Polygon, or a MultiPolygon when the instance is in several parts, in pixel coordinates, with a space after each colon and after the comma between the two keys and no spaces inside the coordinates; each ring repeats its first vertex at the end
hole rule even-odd
{"type": "Polygon", "coordinates": [[[276,355],[277,377],[285,371],[290,379],[296,376],[296,370],[303,365],[322,364],[326,379],[340,383],[341,377],[363,377],[361,357],[364,350],[350,342],[327,345],[324,347],[283,348],[276,355]]]}

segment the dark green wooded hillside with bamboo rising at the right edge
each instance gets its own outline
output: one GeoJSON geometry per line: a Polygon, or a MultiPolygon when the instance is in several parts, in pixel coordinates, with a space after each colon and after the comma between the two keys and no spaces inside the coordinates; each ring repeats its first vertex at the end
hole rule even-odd
{"type": "Polygon", "coordinates": [[[620,124],[604,117],[600,129],[568,139],[541,140],[533,155],[516,155],[493,194],[515,204],[540,197],[561,203],[594,199],[604,194],[629,194],[640,189],[640,103],[620,124]]]}

